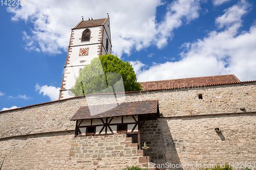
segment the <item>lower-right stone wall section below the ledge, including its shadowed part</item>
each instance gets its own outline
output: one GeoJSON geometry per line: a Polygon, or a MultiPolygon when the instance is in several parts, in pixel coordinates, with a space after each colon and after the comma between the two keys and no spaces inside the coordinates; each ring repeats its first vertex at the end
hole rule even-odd
{"type": "Polygon", "coordinates": [[[147,121],[141,134],[141,145],[147,142],[148,156],[161,169],[170,164],[181,164],[183,169],[223,163],[239,164],[237,167],[256,164],[255,114],[158,118],[147,121]],[[168,165],[161,165],[166,162],[168,165]]]}

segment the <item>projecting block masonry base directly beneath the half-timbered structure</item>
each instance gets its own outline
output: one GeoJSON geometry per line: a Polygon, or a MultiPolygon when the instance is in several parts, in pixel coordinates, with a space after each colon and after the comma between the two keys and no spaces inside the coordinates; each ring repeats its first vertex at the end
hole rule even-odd
{"type": "MultiPolygon", "coordinates": [[[[126,134],[84,136],[72,139],[69,169],[116,169],[146,166],[143,150],[126,134]]],[[[149,161],[150,159],[148,159],[149,161]]]]}

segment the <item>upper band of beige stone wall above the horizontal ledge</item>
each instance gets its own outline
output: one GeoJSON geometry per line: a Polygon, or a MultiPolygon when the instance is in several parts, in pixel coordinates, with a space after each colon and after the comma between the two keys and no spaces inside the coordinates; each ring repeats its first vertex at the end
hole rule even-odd
{"type": "MultiPolygon", "coordinates": [[[[125,93],[122,102],[159,101],[164,117],[212,113],[256,111],[256,82],[231,85],[205,86],[138,93],[125,93]],[[198,98],[203,94],[203,99],[198,98]],[[241,111],[240,108],[245,110],[241,111]]],[[[109,104],[115,99],[109,95],[91,95],[56,101],[28,108],[0,112],[0,138],[24,134],[73,130],[71,116],[87,101],[109,104]]]]}

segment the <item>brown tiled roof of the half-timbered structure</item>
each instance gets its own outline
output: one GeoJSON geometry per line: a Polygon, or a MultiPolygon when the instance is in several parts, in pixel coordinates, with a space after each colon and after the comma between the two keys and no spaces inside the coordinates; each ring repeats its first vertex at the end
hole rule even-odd
{"type": "Polygon", "coordinates": [[[81,107],[70,120],[150,114],[158,112],[158,100],[81,107]],[[90,110],[94,110],[93,114],[90,110]]]}

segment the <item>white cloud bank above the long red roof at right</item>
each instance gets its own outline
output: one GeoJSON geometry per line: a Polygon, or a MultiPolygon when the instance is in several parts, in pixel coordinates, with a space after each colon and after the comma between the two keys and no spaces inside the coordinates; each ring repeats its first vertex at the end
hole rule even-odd
{"type": "Polygon", "coordinates": [[[241,10],[244,12],[238,12],[237,20],[231,19],[224,31],[212,31],[203,39],[184,43],[180,61],[153,64],[137,75],[138,81],[222,74],[234,74],[241,81],[256,80],[256,25],[251,26],[249,31],[239,32],[241,17],[247,7],[247,3],[242,1],[227,9],[223,15],[225,17],[219,18],[232,18],[230,9],[243,8],[241,10]]]}

